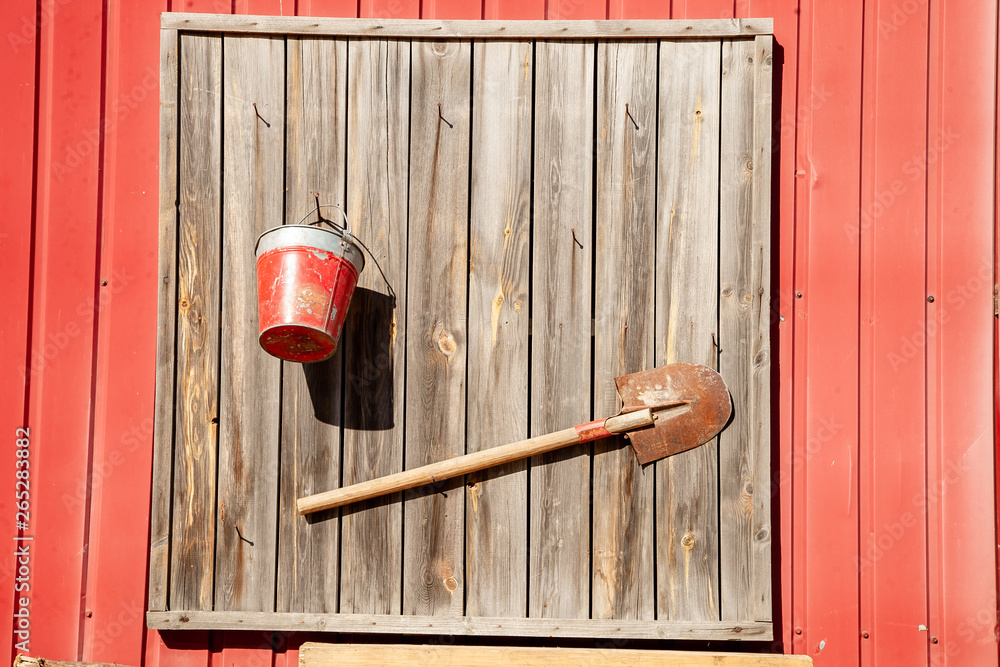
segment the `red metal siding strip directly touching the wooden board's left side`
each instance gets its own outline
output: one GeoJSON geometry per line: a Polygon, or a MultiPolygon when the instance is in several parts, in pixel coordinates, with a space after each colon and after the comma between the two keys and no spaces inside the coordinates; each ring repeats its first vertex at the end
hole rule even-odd
{"type": "Polygon", "coordinates": [[[159,58],[156,15],[166,2],[108,6],[105,65],[100,315],[90,476],[91,558],[86,660],[142,659],[156,349],[159,58]],[[127,382],[122,379],[128,378],[127,382]],[[123,527],[127,526],[125,530],[123,527]],[[134,532],[133,532],[134,531],[134,532]]]}

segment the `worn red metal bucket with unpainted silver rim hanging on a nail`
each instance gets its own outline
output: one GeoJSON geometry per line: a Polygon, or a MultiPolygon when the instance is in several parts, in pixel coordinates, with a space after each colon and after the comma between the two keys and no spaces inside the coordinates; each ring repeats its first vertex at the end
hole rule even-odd
{"type": "Polygon", "coordinates": [[[287,361],[333,356],[358,274],[365,267],[350,231],[282,225],[257,239],[260,346],[287,361]]]}

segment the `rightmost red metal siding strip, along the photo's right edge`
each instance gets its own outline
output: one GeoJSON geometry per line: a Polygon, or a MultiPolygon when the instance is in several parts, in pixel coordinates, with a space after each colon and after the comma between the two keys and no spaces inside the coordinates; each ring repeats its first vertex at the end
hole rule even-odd
{"type": "Polygon", "coordinates": [[[995,4],[931,7],[927,437],[931,660],[996,664],[995,4]],[[932,326],[932,324],[934,326],[932,326]],[[988,358],[988,357],[987,357],[988,358]]]}

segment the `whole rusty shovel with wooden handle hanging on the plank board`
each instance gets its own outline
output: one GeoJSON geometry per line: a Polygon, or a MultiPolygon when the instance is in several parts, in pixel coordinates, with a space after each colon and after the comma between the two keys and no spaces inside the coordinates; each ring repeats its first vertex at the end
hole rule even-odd
{"type": "Polygon", "coordinates": [[[722,377],[700,364],[669,364],[631,373],[615,378],[615,385],[624,407],[614,417],[299,498],[299,514],[441,482],[616,433],[629,439],[639,463],[645,465],[708,442],[732,413],[722,377]]]}

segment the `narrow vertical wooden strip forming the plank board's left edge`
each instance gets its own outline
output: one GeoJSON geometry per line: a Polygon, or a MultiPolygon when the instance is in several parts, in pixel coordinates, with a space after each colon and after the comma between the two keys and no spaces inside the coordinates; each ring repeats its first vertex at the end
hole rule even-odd
{"type": "Polygon", "coordinates": [[[177,330],[177,31],[160,31],[160,215],[156,281],[156,386],[149,517],[151,610],[167,608],[177,330]]]}

